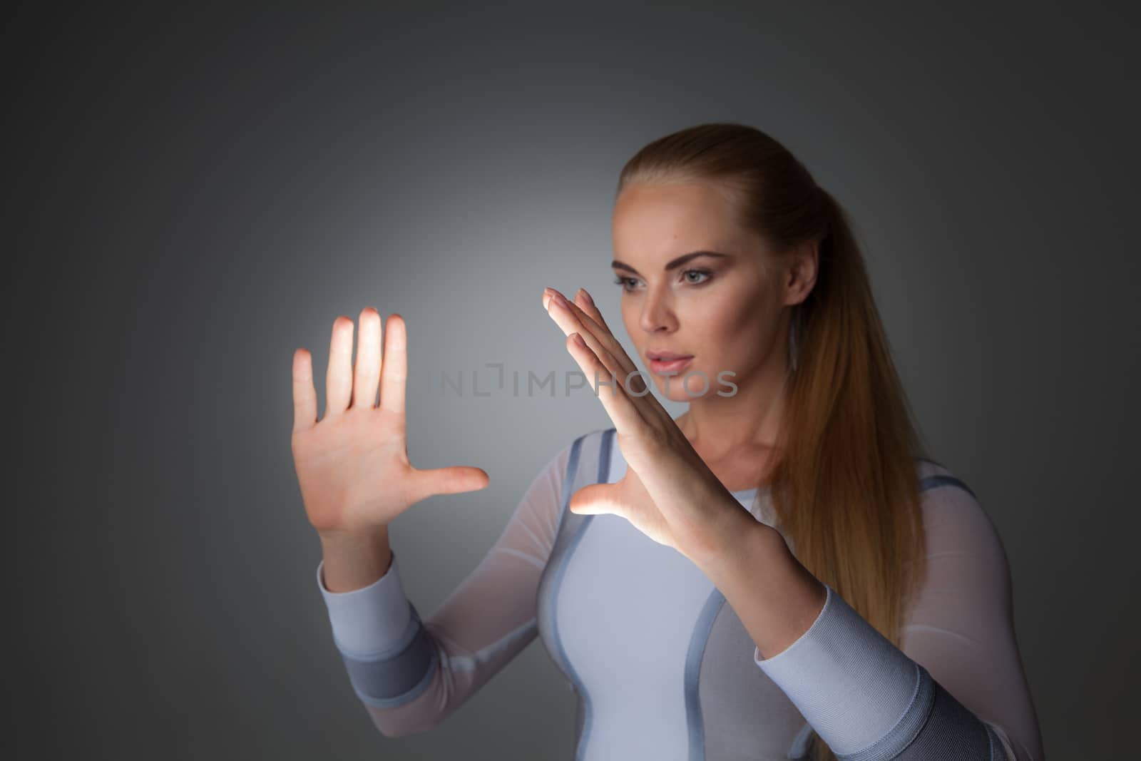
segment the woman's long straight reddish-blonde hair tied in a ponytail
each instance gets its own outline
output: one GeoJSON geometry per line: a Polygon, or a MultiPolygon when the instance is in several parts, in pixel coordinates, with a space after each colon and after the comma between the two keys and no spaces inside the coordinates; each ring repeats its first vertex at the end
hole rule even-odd
{"type": "MultiPolygon", "coordinates": [[[[698,124],[646,145],[623,167],[617,193],[644,181],[714,184],[777,260],[819,241],[816,284],[791,307],[795,372],[769,473],[772,504],[798,560],[898,647],[922,583],[916,459],[929,458],[847,212],[787,148],[743,124],[698,124]]],[[[835,761],[815,732],[812,756],[835,761]]]]}

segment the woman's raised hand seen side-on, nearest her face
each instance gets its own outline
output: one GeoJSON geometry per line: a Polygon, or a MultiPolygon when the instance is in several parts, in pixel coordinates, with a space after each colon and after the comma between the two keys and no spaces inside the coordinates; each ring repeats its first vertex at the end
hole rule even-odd
{"type": "Polygon", "coordinates": [[[570,511],[621,516],[698,566],[723,556],[759,524],[718,480],[650,392],[590,294],[580,289],[570,302],[549,288],[543,291],[543,307],[567,335],[567,350],[614,422],[628,465],[622,480],[575,492],[570,511]]]}

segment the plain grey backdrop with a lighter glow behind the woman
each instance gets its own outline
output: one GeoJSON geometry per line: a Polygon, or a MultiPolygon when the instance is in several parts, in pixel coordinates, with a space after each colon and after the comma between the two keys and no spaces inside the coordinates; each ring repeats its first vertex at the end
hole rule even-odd
{"type": "Polygon", "coordinates": [[[427,384],[487,362],[572,370],[540,293],[585,285],[621,325],[623,162],[741,121],[856,220],[933,454],[1005,542],[1049,758],[1120,758],[1138,679],[1139,24],[1019,5],[16,11],[22,715],[5,750],[570,758],[573,696],[537,641],[434,731],[373,728],[314,581],[292,354],[314,353],[323,411],[333,319],[402,313],[413,463],[491,473],[393,526],[430,614],[539,468],[609,421],[561,386],[427,384]]]}

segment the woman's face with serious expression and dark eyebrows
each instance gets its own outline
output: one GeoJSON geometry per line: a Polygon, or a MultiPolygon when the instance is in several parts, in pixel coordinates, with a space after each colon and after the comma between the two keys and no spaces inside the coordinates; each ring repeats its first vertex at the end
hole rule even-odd
{"type": "Polygon", "coordinates": [[[715,186],[629,185],[615,201],[612,235],[622,321],[665,398],[733,395],[729,383],[747,384],[764,363],[786,361],[770,251],[715,186]],[[693,256],[699,251],[710,253],[693,256]],[[663,365],[655,353],[690,358],[663,365]],[[722,371],[735,374],[719,379],[722,371]]]}

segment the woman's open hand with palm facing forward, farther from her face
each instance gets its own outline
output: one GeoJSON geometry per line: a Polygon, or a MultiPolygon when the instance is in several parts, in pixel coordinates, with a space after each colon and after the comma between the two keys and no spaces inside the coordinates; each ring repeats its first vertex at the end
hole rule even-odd
{"type": "Polygon", "coordinates": [[[370,534],[429,496],[472,492],[488,483],[480,468],[412,467],[404,416],[407,332],[399,315],[389,315],[383,343],[381,363],[380,314],[366,307],[354,367],[353,321],[333,321],[319,422],[313,358],[306,349],[293,353],[293,464],[306,515],[323,537],[370,534]]]}

